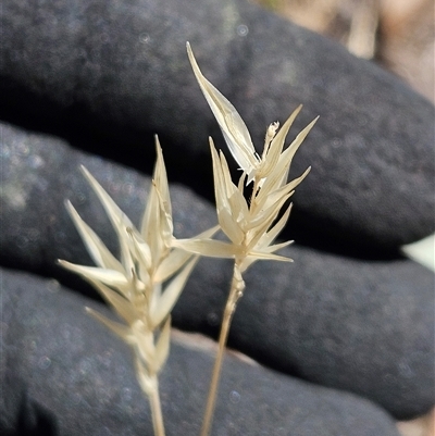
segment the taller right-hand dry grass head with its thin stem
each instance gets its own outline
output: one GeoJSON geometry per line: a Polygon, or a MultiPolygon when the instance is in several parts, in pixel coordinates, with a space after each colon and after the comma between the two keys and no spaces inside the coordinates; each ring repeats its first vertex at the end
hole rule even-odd
{"type": "Polygon", "coordinates": [[[176,242],[177,247],[192,253],[234,259],[233,282],[222,321],[219,351],[201,431],[201,435],[207,436],[211,428],[223,350],[231,320],[237,301],[245,290],[243,274],[258,260],[291,261],[289,258],[275,253],[291,241],[274,244],[274,240],[289,217],[291,204],[286,205],[288,199],[310,171],[308,167],[299,177],[287,182],[291,160],[318,119],[301,130],[286,149],[284,149],[285,138],[301,107],[293,112],[281,129],[278,123],[272,123],[266,129],[263,152],[259,155],[241,116],[203,76],[188,42],[187,53],[225,142],[243,171],[238,182],[233,183],[224,153],[216,151],[210,138],[217,220],[229,240],[225,242],[201,238],[176,242]],[[244,190],[245,185],[250,184],[252,184],[252,190],[247,200],[244,190]],[[285,208],[284,213],[282,213],[283,208],[285,208]]]}

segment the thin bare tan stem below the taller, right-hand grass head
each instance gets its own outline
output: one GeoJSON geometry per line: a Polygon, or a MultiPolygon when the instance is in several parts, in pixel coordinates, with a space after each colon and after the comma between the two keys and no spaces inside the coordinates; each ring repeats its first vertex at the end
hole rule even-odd
{"type": "Polygon", "coordinates": [[[229,290],[228,299],[226,300],[224,317],[222,320],[221,333],[219,336],[217,356],[214,361],[213,374],[209,388],[209,396],[207,398],[206,413],[202,422],[201,436],[208,436],[213,421],[214,407],[217,396],[217,386],[221,377],[222,361],[224,357],[226,340],[228,338],[229,326],[233,314],[236,310],[237,301],[241,297],[245,288],[245,282],[238,270],[237,262],[234,266],[234,276],[232,281],[232,288],[229,290]]]}

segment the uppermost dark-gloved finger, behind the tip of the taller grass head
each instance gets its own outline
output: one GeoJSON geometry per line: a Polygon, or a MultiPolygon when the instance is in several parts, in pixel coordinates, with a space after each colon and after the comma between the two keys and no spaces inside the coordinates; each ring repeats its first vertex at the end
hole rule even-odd
{"type": "Polygon", "coordinates": [[[136,167],[157,133],[173,176],[211,197],[208,136],[224,146],[189,40],[259,147],[299,103],[294,133],[321,115],[294,164],[313,166],[294,235],[377,256],[435,231],[433,104],[338,45],[243,0],[7,0],[0,13],[3,120],[136,167]]]}

